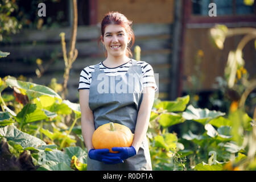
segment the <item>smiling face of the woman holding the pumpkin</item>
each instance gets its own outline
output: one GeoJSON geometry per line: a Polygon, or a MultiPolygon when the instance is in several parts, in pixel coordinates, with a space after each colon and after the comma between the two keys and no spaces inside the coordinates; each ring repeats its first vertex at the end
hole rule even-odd
{"type": "Polygon", "coordinates": [[[105,33],[102,37],[108,56],[122,56],[126,53],[127,44],[130,38],[125,31],[125,28],[117,24],[109,24],[105,27],[105,33]]]}

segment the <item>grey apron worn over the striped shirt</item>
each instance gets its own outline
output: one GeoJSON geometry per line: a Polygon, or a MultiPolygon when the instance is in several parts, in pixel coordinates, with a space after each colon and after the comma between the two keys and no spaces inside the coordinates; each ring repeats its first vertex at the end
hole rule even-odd
{"type": "MultiPolygon", "coordinates": [[[[137,61],[125,75],[108,76],[95,65],[89,90],[89,107],[93,111],[94,126],[97,129],[105,123],[120,123],[134,134],[137,114],[143,97],[142,69],[137,61]]],[[[152,170],[148,141],[145,136],[137,155],[121,164],[104,164],[88,157],[87,170],[152,170]]]]}

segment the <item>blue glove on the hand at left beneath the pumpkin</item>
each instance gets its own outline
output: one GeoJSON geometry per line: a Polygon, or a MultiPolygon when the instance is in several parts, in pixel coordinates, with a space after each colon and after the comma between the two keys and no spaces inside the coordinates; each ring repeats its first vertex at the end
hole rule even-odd
{"type": "Polygon", "coordinates": [[[108,148],[103,148],[103,149],[91,149],[88,152],[88,156],[90,159],[94,159],[94,160],[98,160],[100,162],[104,162],[103,159],[105,159],[106,162],[115,162],[116,160],[119,161],[120,158],[119,156],[108,156],[107,154],[109,153],[109,149],[108,148]]]}

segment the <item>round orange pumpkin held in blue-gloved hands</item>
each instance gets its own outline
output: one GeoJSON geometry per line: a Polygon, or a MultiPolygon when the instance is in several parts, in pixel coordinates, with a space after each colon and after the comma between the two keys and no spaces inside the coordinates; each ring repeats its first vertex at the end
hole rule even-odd
{"type": "Polygon", "coordinates": [[[110,152],[112,147],[130,147],[133,143],[133,133],[129,127],[118,123],[106,123],[94,131],[92,144],[95,149],[108,148],[110,152]]]}

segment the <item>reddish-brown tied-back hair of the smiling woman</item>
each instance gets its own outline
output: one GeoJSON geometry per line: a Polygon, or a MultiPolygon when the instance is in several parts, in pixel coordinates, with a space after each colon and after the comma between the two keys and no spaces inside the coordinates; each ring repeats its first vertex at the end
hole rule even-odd
{"type": "MultiPolygon", "coordinates": [[[[119,26],[122,26],[123,28],[125,28],[129,38],[131,38],[129,46],[127,46],[127,49],[126,49],[126,56],[128,56],[128,57],[133,56],[133,53],[131,53],[131,49],[130,49],[133,46],[134,39],[135,39],[133,29],[131,29],[132,23],[133,22],[130,21],[129,19],[127,19],[125,15],[118,13],[117,11],[115,11],[115,12],[111,11],[111,12],[105,14],[104,18],[101,21],[101,36],[102,36],[102,38],[104,37],[104,34],[105,34],[105,28],[109,24],[118,24],[119,26]]],[[[108,52],[105,52],[105,55],[108,56],[108,52]]]]}

